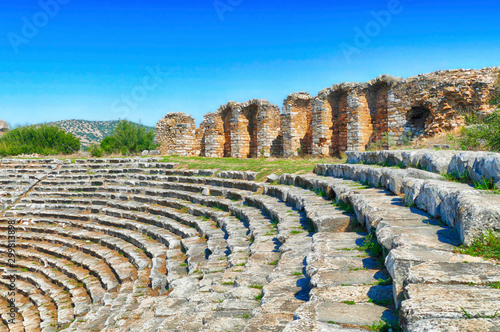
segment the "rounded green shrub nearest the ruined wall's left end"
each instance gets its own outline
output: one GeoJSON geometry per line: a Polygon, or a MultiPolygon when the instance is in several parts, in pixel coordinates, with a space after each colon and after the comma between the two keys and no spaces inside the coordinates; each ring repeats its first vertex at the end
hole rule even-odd
{"type": "Polygon", "coordinates": [[[136,154],[143,150],[155,150],[158,144],[154,138],[154,131],[148,131],[144,126],[123,120],[118,123],[113,135],[101,142],[101,149],[106,153],[136,154]]]}

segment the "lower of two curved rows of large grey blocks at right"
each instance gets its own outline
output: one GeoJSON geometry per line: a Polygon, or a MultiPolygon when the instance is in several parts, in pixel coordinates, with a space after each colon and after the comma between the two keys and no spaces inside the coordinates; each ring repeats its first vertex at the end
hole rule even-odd
{"type": "Polygon", "coordinates": [[[500,195],[445,181],[431,172],[367,165],[320,164],[315,173],[360,181],[405,195],[405,202],[440,217],[470,245],[488,230],[500,231],[500,195]]]}

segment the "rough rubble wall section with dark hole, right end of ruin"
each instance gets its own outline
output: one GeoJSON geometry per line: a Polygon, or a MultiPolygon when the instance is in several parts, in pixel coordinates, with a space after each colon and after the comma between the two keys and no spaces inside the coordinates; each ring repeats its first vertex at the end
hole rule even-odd
{"type": "Polygon", "coordinates": [[[433,136],[463,126],[467,115],[491,113],[499,72],[498,67],[444,70],[394,85],[394,138],[401,141],[403,132],[433,136]]]}

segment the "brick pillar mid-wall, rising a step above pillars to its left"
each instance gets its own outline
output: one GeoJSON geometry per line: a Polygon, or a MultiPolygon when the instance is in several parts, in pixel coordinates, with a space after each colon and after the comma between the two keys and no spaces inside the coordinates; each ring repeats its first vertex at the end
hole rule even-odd
{"type": "Polygon", "coordinates": [[[312,154],[312,102],[306,92],[285,99],[281,114],[284,157],[312,154]]]}

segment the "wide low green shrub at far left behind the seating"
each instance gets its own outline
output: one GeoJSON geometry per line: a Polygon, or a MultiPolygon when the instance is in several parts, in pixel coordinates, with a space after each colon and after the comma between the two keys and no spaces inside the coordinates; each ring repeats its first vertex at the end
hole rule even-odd
{"type": "Polygon", "coordinates": [[[55,126],[27,126],[12,129],[0,138],[0,155],[57,155],[80,150],[80,140],[55,126]]]}

